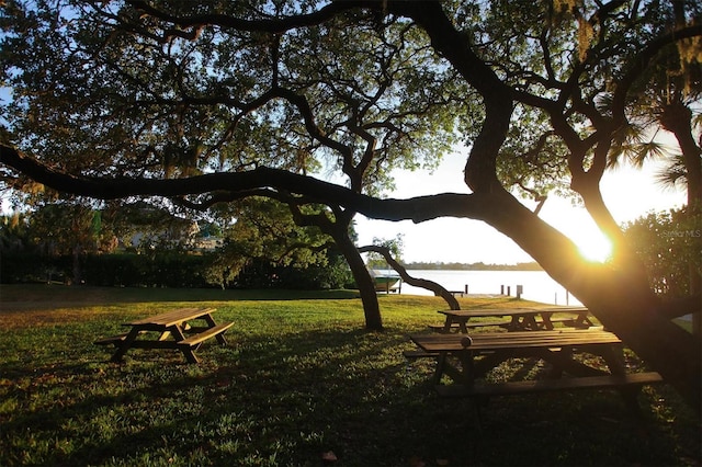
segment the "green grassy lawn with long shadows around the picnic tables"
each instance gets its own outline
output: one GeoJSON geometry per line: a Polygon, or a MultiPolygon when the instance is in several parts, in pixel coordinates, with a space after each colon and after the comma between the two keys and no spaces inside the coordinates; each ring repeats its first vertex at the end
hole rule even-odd
{"type": "Polygon", "coordinates": [[[0,465],[700,465],[700,420],[665,385],[643,390],[643,419],[588,390],[494,399],[480,430],[469,401],[433,392],[432,362],[403,356],[445,304],[381,307],[374,333],[349,291],[0,286],[0,465]],[[111,364],[92,344],[193,303],[235,322],[199,365],[144,350],[111,364]]]}

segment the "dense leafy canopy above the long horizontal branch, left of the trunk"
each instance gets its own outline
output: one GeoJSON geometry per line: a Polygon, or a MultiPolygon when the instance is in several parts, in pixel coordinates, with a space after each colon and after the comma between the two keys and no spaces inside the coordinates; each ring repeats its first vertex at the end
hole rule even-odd
{"type": "Polygon", "coordinates": [[[4,111],[24,150],[68,171],[167,178],[339,160],[354,190],[377,193],[394,167],[431,166],[454,141],[453,76],[407,21],[349,11],[270,33],[227,18],[308,5],[154,8],[8,9],[4,111]]]}

